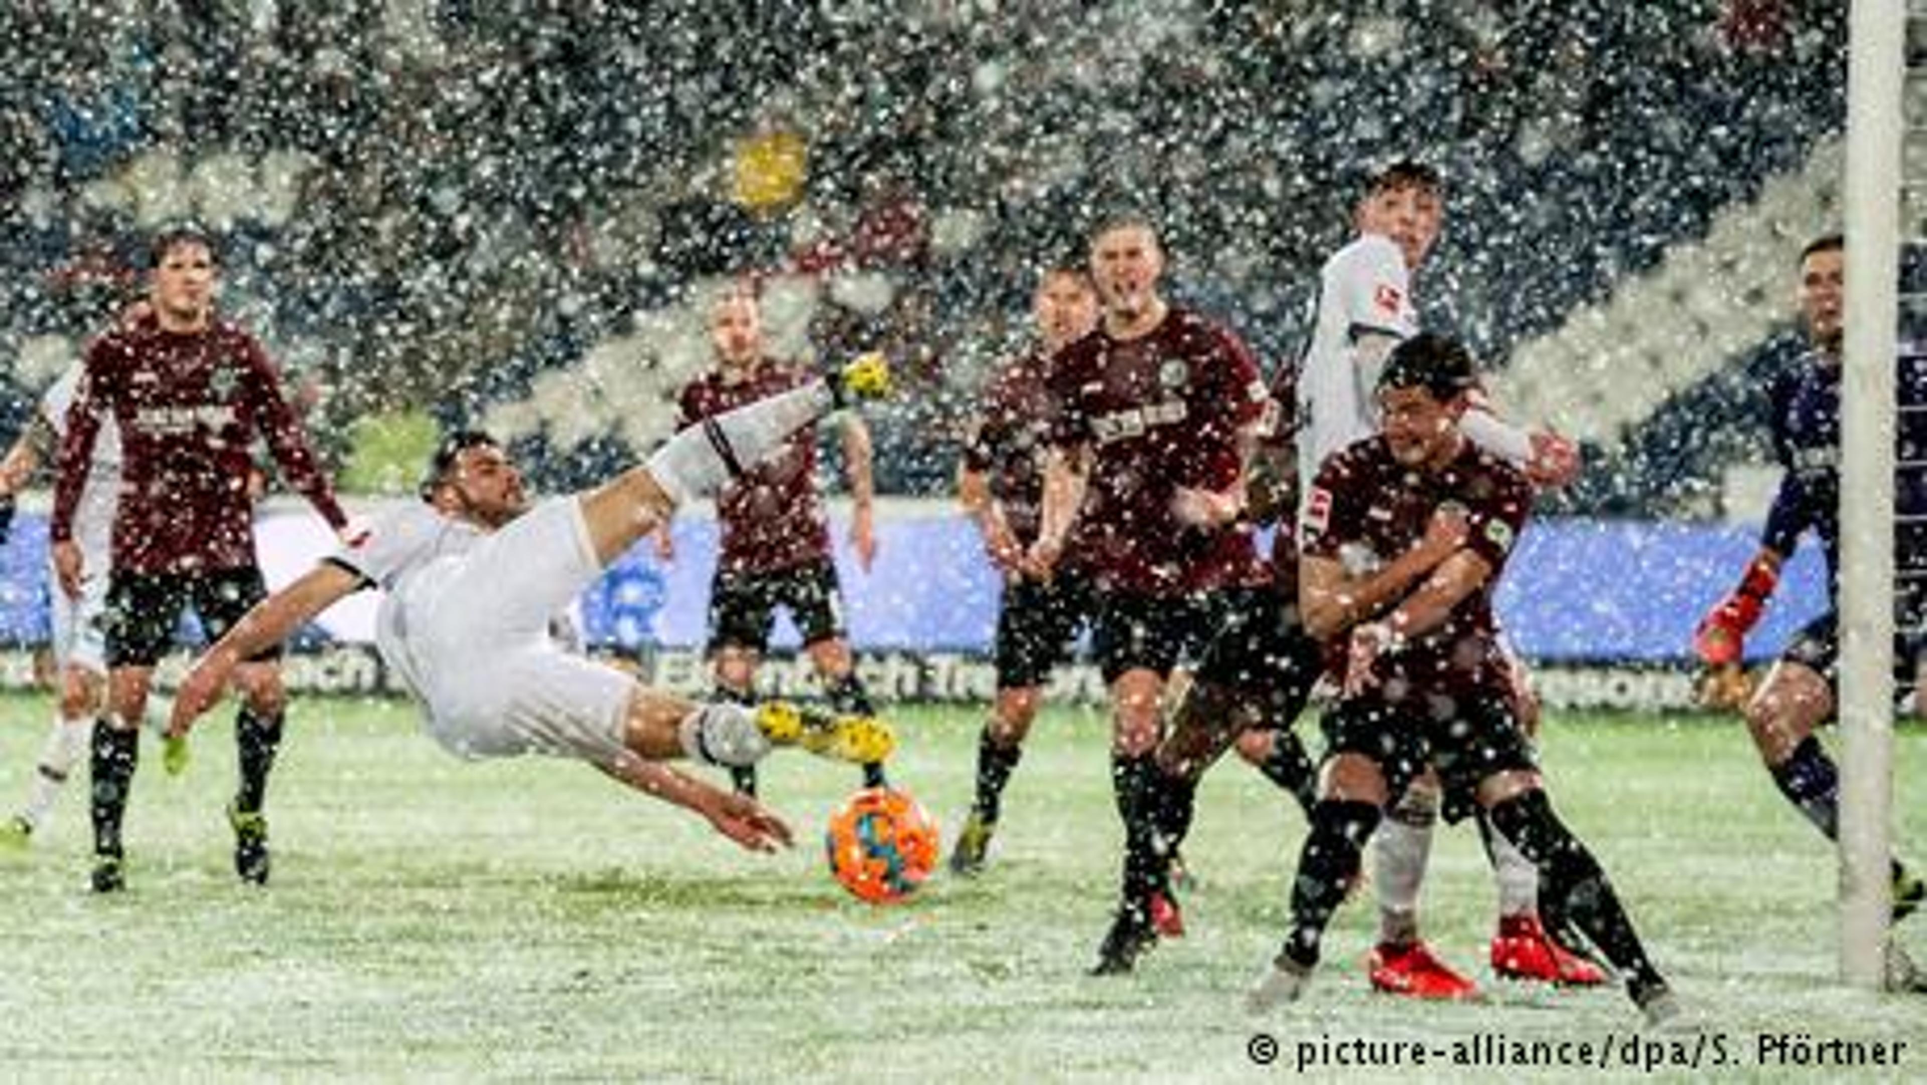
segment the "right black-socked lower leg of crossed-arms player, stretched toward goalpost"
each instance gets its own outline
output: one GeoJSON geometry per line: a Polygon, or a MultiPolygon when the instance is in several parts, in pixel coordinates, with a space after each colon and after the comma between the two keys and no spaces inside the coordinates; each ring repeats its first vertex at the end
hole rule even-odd
{"type": "Polygon", "coordinates": [[[1486,813],[1491,817],[1491,827],[1518,844],[1518,850],[1540,867],[1545,904],[1584,931],[1605,960],[1626,977],[1626,994],[1646,1019],[1665,1023],[1675,1018],[1678,1004],[1665,977],[1648,960],[1632,919],[1613,892],[1613,883],[1586,844],[1553,813],[1545,792],[1526,790],[1493,804],[1486,813]]]}

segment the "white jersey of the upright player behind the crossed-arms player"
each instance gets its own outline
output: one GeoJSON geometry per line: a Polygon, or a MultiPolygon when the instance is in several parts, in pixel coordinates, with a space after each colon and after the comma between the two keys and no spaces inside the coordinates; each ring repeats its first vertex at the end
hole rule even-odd
{"type": "Polygon", "coordinates": [[[1378,434],[1378,403],[1368,387],[1374,378],[1360,366],[1359,339],[1416,333],[1411,274],[1389,237],[1360,235],[1326,260],[1312,343],[1297,380],[1301,495],[1310,493],[1326,457],[1378,434]]]}

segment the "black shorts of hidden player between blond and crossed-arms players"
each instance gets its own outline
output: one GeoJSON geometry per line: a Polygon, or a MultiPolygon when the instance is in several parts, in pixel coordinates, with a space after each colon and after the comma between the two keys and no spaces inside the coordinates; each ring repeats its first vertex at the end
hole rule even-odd
{"type": "Polygon", "coordinates": [[[1239,592],[1204,649],[1197,680],[1262,701],[1266,723],[1291,727],[1324,673],[1324,648],[1297,615],[1276,592],[1239,592]]]}

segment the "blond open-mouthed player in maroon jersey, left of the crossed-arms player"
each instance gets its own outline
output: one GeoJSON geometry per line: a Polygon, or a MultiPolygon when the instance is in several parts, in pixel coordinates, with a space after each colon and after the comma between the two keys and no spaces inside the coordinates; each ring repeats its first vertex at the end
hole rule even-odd
{"type": "MultiPolygon", "coordinates": [[[[1050,570],[1075,516],[1077,561],[1098,586],[1095,649],[1112,696],[1112,784],[1131,838],[1164,732],[1166,680],[1226,622],[1264,613],[1266,570],[1245,509],[1245,455],[1264,418],[1251,351],[1158,291],[1164,251],[1135,218],[1091,239],[1098,328],[1066,347],[1044,515],[1031,559],[1050,570]]],[[[1164,900],[1168,906],[1168,900],[1164,900]]],[[[1098,971],[1127,971],[1152,940],[1154,887],[1125,869],[1098,971]]]]}

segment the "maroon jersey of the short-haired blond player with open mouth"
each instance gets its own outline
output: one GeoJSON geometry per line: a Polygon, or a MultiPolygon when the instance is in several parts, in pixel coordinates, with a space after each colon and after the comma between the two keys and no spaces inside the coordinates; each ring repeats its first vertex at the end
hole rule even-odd
{"type": "Polygon", "coordinates": [[[1096,463],[1069,547],[1110,590],[1170,595],[1262,584],[1249,526],[1185,526],[1179,486],[1239,480],[1239,430],[1264,414],[1264,382],[1229,331],[1172,308],[1148,335],[1098,330],[1066,347],[1050,376],[1058,445],[1093,445],[1096,463]]]}

